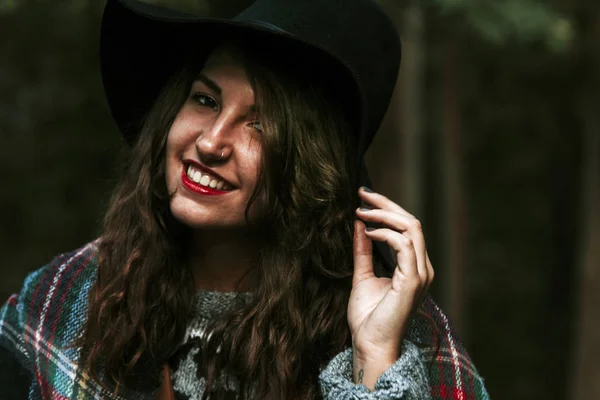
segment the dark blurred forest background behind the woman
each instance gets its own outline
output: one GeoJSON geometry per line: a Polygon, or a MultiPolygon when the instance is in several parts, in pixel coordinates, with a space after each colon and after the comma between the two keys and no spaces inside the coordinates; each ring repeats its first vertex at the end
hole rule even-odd
{"type": "MultiPolygon", "coordinates": [[[[493,399],[600,399],[600,1],[380,3],[404,58],[370,172],[423,221],[435,298],[493,399]]],[[[123,146],[103,5],[0,0],[2,299],[98,234],[123,146]]]]}

